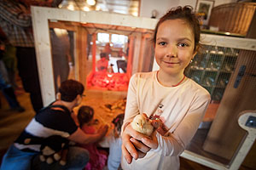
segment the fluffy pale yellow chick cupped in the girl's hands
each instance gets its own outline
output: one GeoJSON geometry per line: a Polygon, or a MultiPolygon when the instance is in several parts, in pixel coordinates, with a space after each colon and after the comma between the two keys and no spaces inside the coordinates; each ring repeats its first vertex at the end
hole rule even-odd
{"type": "Polygon", "coordinates": [[[148,119],[146,114],[137,115],[131,122],[131,127],[139,133],[146,134],[148,136],[153,133],[154,127],[151,124],[151,120],[148,119]]]}

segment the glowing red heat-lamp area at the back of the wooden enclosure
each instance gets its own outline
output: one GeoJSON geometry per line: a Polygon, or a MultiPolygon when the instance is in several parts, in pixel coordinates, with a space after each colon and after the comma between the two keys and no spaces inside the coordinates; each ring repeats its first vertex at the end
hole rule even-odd
{"type": "Polygon", "coordinates": [[[109,42],[101,47],[96,45],[96,34],[92,36],[92,69],[86,77],[87,89],[127,91],[131,77],[132,38],[128,44],[129,50],[114,47],[109,42]]]}

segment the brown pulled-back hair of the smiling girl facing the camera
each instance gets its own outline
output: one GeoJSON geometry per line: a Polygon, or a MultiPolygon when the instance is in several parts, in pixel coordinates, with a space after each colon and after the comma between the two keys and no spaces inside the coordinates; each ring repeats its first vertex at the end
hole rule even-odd
{"type": "Polygon", "coordinates": [[[185,20],[190,26],[190,28],[192,29],[195,37],[194,51],[197,51],[198,48],[201,47],[201,44],[200,44],[201,28],[200,28],[200,22],[198,20],[198,17],[192,11],[193,11],[193,8],[188,5],[184,7],[179,6],[177,8],[171,8],[164,16],[160,18],[157,25],[155,26],[154,37],[153,37],[154,44],[156,42],[156,35],[157,35],[157,31],[160,24],[162,24],[166,20],[180,19],[180,20],[185,20]]]}

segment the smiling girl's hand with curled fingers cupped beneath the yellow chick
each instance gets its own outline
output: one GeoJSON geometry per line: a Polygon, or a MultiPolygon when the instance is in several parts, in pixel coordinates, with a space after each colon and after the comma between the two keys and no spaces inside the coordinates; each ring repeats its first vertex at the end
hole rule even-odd
{"type": "Polygon", "coordinates": [[[125,127],[122,134],[122,141],[122,153],[129,164],[132,161],[132,157],[136,160],[137,158],[143,158],[149,150],[152,148],[156,149],[158,146],[155,133],[152,134],[152,139],[150,139],[150,137],[138,133],[130,124],[125,127]]]}

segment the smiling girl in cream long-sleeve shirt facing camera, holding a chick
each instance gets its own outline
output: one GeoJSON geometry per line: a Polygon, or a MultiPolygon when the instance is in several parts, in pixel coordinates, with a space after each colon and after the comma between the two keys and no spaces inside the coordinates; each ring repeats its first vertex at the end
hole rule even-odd
{"type": "Polygon", "coordinates": [[[156,25],[153,40],[160,70],[137,73],[129,83],[122,133],[125,170],[179,169],[178,156],[193,138],[210,102],[207,90],[183,74],[200,47],[200,24],[192,8],[172,8],[156,25]],[[143,113],[163,122],[150,138],[130,125],[143,113]]]}

